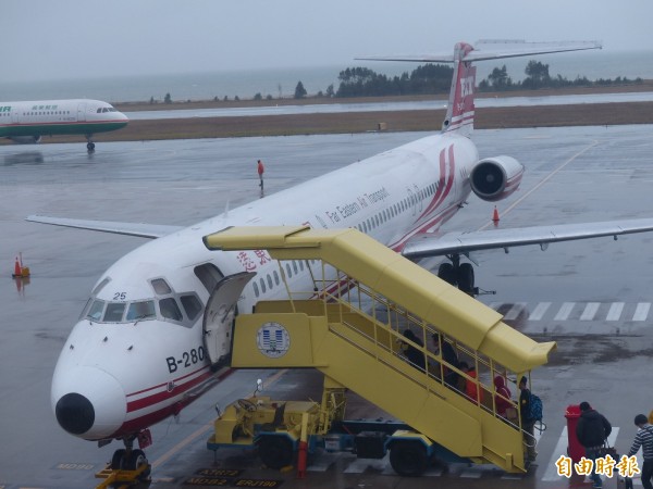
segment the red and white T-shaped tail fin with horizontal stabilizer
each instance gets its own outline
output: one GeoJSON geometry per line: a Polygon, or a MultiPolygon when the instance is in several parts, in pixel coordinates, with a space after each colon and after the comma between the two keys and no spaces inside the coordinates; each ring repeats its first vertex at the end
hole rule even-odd
{"type": "Polygon", "coordinates": [[[466,42],[456,43],[453,55],[373,57],[357,58],[357,60],[454,63],[454,76],[442,131],[458,131],[469,135],[473,129],[475,116],[476,66],[472,65],[472,62],[601,48],[601,42],[597,41],[526,42],[522,40],[481,40],[473,46],[466,42]]]}

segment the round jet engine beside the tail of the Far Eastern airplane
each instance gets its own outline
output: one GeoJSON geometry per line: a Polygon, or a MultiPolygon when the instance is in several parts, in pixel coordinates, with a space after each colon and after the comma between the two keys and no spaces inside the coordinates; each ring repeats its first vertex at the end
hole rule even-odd
{"type": "Polygon", "coordinates": [[[471,190],[490,202],[502,200],[513,193],[521,183],[523,165],[512,156],[485,158],[479,161],[469,180],[471,190]]]}

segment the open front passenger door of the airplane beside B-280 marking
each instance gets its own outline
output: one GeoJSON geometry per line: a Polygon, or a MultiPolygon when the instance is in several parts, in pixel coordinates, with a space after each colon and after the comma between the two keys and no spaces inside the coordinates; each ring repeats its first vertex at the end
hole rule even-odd
{"type": "Polygon", "coordinates": [[[243,272],[224,277],[209,297],[204,316],[204,340],[212,364],[229,359],[236,302],[255,275],[254,272],[243,272]]]}

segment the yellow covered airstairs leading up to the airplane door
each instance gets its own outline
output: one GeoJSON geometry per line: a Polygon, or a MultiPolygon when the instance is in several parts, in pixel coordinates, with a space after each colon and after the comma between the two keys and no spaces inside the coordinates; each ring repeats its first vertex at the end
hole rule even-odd
{"type": "MultiPolygon", "coordinates": [[[[233,367],[315,367],[461,457],[526,472],[521,422],[496,413],[493,379],[530,376],[555,342],[531,340],[356,229],[232,227],[204,241],[214,250],[267,250],[287,287],[288,300],[261,301],[236,317],[233,367]],[[309,268],[312,290],[292,290],[297,276],[286,272],[293,261],[309,268]],[[406,338],[407,329],[423,346],[406,338]],[[433,337],[448,342],[478,377],[434,352],[433,337]],[[407,346],[424,355],[426,369],[407,361],[407,346]],[[445,383],[447,369],[476,386],[482,400],[445,383]]],[[[512,391],[519,396],[514,385],[512,391]]]]}

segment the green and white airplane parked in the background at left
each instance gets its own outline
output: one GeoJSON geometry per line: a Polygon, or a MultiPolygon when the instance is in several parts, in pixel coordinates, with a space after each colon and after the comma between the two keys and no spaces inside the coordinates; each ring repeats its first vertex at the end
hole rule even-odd
{"type": "Polygon", "coordinates": [[[41,136],[81,134],[95,151],[93,135],[125,127],[130,120],[100,100],[39,100],[0,102],[0,137],[28,145],[41,136]]]}

